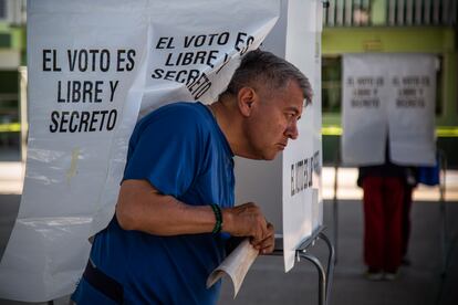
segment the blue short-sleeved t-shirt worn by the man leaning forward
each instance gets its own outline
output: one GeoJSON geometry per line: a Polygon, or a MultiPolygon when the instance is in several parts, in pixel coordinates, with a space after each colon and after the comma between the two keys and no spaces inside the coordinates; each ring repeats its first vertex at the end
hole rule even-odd
{"type": "MultiPolygon", "coordinates": [[[[131,137],[126,179],[148,180],[191,206],[233,207],[233,154],[201,103],[175,103],[150,113],[131,137]]],[[[113,218],[97,233],[91,260],[124,287],[126,304],[216,304],[220,283],[206,288],[225,257],[227,234],[157,236],[125,231],[113,218]]],[[[79,304],[108,302],[82,278],[79,304]]]]}

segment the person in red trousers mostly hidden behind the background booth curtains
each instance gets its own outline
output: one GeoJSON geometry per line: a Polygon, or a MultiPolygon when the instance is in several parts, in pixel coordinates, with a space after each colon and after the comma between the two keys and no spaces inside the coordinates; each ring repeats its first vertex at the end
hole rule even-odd
{"type": "Polygon", "coordinates": [[[383,165],[360,167],[357,185],[364,191],[365,276],[371,281],[395,280],[407,249],[404,234],[408,231],[403,229],[406,218],[403,209],[409,191],[406,169],[391,161],[388,141],[383,165]]]}

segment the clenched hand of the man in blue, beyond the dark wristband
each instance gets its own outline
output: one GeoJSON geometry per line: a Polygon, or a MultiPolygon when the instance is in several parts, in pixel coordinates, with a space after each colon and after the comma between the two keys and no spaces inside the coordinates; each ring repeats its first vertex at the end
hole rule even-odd
{"type": "Polygon", "coordinates": [[[222,231],[233,236],[249,236],[251,244],[261,254],[270,253],[274,246],[273,225],[266,221],[261,209],[253,202],[222,210],[222,231]]]}

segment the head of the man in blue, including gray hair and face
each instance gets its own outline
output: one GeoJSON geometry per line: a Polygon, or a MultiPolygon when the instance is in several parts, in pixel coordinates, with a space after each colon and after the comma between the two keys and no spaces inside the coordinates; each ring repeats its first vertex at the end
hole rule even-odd
{"type": "Polygon", "coordinates": [[[290,138],[298,138],[296,123],[312,88],[294,65],[256,50],[242,59],[219,99],[236,101],[242,116],[240,156],[271,160],[290,138]]]}

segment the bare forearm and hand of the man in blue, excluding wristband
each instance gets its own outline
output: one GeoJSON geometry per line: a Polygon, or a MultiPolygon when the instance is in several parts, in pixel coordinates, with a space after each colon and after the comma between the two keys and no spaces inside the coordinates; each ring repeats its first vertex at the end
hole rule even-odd
{"type": "MultiPolygon", "coordinates": [[[[155,235],[208,233],[215,227],[210,206],[189,206],[162,194],[146,180],[125,180],[119,190],[116,218],[124,230],[155,235]]],[[[222,209],[222,231],[250,236],[262,253],[273,250],[273,227],[252,202],[222,209]]]]}

